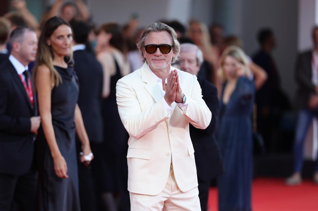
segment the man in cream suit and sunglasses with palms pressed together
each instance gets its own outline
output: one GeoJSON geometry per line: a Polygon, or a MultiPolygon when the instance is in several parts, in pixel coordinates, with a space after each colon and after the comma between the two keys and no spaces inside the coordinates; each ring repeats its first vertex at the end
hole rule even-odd
{"type": "Polygon", "coordinates": [[[198,211],[197,170],[189,123],[205,129],[211,112],[197,77],[171,67],[178,60],[176,32],[150,24],[137,44],[143,66],[118,80],[118,112],[128,140],[131,211],[198,211]]]}

